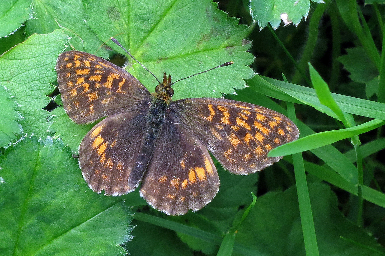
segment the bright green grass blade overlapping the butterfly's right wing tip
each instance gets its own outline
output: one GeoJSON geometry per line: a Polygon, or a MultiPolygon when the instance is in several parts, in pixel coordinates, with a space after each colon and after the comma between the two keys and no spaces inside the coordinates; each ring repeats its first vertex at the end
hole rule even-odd
{"type": "Polygon", "coordinates": [[[350,138],[361,133],[366,133],[384,124],[385,121],[375,119],[363,123],[362,125],[357,125],[350,128],[323,131],[320,133],[312,134],[274,148],[268,153],[268,156],[284,156],[303,152],[306,150],[313,150],[315,148],[320,148],[339,140],[350,138]]]}

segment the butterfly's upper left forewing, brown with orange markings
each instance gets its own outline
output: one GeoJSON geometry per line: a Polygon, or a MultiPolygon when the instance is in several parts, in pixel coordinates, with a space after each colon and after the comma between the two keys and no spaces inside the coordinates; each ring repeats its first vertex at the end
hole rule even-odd
{"type": "Polygon", "coordinates": [[[56,72],[64,109],[76,123],[136,111],[151,101],[149,91],[134,76],[89,53],[60,54],[56,72]]]}

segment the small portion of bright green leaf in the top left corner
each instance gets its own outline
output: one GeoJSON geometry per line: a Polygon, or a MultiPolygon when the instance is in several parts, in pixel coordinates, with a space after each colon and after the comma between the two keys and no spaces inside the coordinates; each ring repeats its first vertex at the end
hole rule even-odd
{"type": "Polygon", "coordinates": [[[31,0],[4,0],[0,5],[0,38],[12,34],[32,18],[31,0]]]}

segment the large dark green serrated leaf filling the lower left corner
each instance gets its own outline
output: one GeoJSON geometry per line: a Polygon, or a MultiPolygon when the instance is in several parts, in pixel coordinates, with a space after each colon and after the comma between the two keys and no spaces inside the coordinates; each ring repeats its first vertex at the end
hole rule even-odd
{"type": "Polygon", "coordinates": [[[62,141],[23,138],[0,166],[1,255],[125,253],[119,244],[129,239],[130,211],[85,185],[62,141]]]}

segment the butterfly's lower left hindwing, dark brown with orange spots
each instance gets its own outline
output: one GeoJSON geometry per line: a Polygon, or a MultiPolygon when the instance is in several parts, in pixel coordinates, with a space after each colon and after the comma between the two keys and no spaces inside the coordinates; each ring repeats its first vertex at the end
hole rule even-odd
{"type": "Polygon", "coordinates": [[[95,192],[104,190],[105,195],[117,196],[137,187],[130,186],[127,181],[146,130],[143,115],[131,112],[108,116],[83,138],[79,147],[79,165],[84,180],[95,192]]]}

